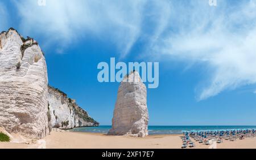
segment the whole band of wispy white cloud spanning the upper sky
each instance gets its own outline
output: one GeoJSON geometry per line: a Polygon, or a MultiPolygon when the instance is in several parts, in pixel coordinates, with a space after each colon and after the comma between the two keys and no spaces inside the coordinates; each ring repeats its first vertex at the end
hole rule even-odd
{"type": "Polygon", "coordinates": [[[94,36],[111,41],[125,58],[144,38],[146,56],[203,63],[206,80],[196,89],[198,100],[256,83],[255,0],[217,1],[217,7],[208,0],[47,0],[45,7],[34,0],[13,2],[23,32],[59,42],[58,53],[94,36]]]}

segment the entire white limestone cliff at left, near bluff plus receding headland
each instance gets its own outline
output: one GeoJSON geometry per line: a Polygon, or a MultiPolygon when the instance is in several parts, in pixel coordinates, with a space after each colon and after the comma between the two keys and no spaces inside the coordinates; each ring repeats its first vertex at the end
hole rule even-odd
{"type": "Polygon", "coordinates": [[[13,28],[0,34],[0,128],[41,139],[51,128],[98,126],[75,100],[49,88],[38,43],[13,28]]]}

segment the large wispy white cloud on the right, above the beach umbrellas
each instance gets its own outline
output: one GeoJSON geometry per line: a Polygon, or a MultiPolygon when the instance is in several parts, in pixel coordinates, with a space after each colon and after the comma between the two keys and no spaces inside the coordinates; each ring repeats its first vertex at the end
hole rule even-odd
{"type": "Polygon", "coordinates": [[[256,1],[218,2],[218,7],[201,1],[176,6],[171,19],[175,24],[170,25],[177,31],[163,37],[154,50],[175,60],[204,63],[209,79],[197,88],[198,100],[256,83],[256,1]]]}

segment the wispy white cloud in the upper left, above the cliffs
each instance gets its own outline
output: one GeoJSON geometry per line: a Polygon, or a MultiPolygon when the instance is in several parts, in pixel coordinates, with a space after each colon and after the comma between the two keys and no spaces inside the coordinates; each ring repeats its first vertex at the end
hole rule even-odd
{"type": "Polygon", "coordinates": [[[38,6],[28,0],[15,4],[22,18],[20,28],[25,32],[41,33],[60,40],[63,46],[93,34],[112,41],[125,56],[141,34],[145,2],[51,0],[46,6],[38,6]]]}

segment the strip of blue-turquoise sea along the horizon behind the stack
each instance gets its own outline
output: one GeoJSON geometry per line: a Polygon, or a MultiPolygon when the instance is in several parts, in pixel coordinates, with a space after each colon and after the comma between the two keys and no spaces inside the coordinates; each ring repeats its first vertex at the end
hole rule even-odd
{"type": "MultiPolygon", "coordinates": [[[[112,126],[81,127],[71,129],[73,132],[108,133],[112,126]]],[[[227,131],[256,129],[256,126],[148,126],[149,135],[174,135],[183,132],[227,131]]]]}

